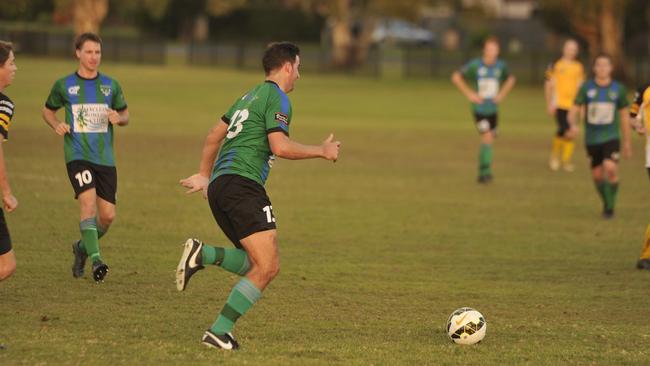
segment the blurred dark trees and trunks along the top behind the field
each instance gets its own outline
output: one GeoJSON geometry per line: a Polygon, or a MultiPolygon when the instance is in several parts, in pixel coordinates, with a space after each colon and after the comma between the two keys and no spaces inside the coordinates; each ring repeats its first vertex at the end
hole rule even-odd
{"type": "MultiPolygon", "coordinates": [[[[474,14],[465,25],[479,22],[489,28],[490,14],[481,2],[463,0],[12,0],[11,6],[0,7],[0,21],[49,22],[72,26],[76,33],[102,25],[131,27],[183,41],[327,42],[332,63],[350,66],[364,62],[382,18],[418,23],[426,9],[436,7],[460,19],[451,23],[456,26],[474,14]]],[[[579,38],[591,56],[606,52],[622,65],[626,42],[648,34],[650,2],[539,0],[535,16],[556,34],[579,38]]]]}

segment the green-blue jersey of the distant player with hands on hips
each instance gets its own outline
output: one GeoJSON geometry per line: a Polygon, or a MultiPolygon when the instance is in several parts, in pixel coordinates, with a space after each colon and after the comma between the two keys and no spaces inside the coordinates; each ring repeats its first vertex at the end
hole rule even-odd
{"type": "Polygon", "coordinates": [[[472,110],[482,116],[491,116],[497,113],[494,97],[499,94],[501,85],[508,79],[510,72],[502,60],[497,60],[492,65],[487,65],[480,58],[475,58],[460,69],[461,75],[469,86],[483,98],[483,103],[472,103],[472,110]]]}

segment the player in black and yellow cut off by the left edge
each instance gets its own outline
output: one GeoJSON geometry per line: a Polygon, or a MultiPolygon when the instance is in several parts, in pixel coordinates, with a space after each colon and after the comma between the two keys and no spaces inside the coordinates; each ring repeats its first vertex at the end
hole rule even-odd
{"type": "MultiPolygon", "coordinates": [[[[14,116],[14,103],[4,95],[6,87],[11,85],[16,74],[13,46],[11,43],[0,41],[0,135],[2,140],[9,138],[9,126],[14,116]]],[[[16,197],[11,193],[5,157],[0,142],[0,191],[2,191],[2,207],[7,212],[12,212],[18,207],[16,197]]],[[[16,270],[16,257],[11,248],[11,237],[5,221],[4,211],[0,209],[0,281],[7,279],[16,270]]]]}

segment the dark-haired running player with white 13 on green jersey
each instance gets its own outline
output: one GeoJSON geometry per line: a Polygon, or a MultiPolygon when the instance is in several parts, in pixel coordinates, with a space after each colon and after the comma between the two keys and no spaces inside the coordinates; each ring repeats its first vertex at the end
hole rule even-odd
{"type": "Polygon", "coordinates": [[[243,276],[203,336],[203,343],[210,347],[239,347],[231,333],[235,322],[280,270],[275,217],[264,190],[273,159],[338,158],[340,142],[333,141],[333,135],[321,145],[289,139],[292,109],[287,93],[300,77],[299,54],[291,43],[267,48],[262,59],[266,80],[237,99],[221,117],[205,140],[199,173],[181,180],[188,193],[203,191],[219,227],[236,248],[188,239],[176,271],[178,290],[185,290],[190,277],[207,264],[243,276]]]}

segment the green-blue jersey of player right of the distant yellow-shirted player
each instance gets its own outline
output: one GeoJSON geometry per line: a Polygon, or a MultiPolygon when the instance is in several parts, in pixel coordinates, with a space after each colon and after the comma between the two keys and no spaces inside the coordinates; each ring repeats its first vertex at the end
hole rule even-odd
{"type": "Polygon", "coordinates": [[[585,106],[585,144],[597,145],[620,138],[621,117],[619,110],[629,105],[627,90],[623,84],[612,81],[607,86],[585,81],[575,104],[585,106]]]}

